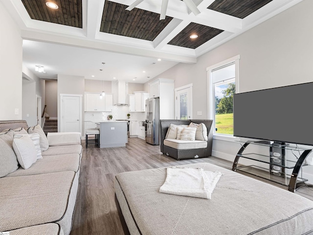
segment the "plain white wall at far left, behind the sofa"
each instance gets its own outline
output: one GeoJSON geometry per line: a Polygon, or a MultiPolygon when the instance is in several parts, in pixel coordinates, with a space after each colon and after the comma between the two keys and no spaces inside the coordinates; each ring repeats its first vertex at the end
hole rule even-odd
{"type": "Polygon", "coordinates": [[[0,83],[0,120],[22,119],[21,30],[1,2],[0,83]],[[18,115],[15,109],[19,110],[18,115]]]}

